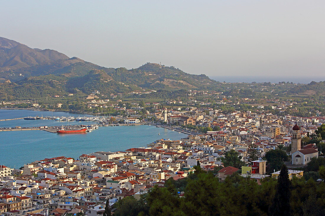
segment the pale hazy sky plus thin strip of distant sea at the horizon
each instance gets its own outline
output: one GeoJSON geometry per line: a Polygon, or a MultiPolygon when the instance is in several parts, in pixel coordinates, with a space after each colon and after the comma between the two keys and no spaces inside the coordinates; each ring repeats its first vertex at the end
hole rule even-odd
{"type": "Polygon", "coordinates": [[[324,0],[7,0],[0,36],[105,67],[323,81],[324,10],[324,0]]]}

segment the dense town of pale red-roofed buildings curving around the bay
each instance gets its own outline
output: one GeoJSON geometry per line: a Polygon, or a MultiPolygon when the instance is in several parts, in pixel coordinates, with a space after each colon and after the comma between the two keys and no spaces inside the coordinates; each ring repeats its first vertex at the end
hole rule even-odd
{"type": "Polygon", "coordinates": [[[182,128],[190,135],[153,140],[146,147],[124,151],[85,152],[78,158],[31,158],[19,169],[1,165],[0,215],[101,216],[107,203],[126,197],[139,200],[168,179],[179,181],[199,168],[213,173],[219,182],[240,174],[260,185],[267,178],[277,179],[282,164],[288,167],[290,179],[312,178],[304,168],[323,158],[325,151],[322,117],[225,113],[198,107],[182,110],[154,104],[154,112],[146,113],[152,117],[144,121],[131,116],[144,108],[132,105],[123,110],[128,115],[124,122],[153,120],[157,127],[182,128]]]}

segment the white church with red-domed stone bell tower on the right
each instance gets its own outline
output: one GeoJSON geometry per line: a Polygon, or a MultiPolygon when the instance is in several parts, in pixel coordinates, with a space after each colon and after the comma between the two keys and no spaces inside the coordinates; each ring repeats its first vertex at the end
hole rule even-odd
{"type": "Polygon", "coordinates": [[[318,158],[318,149],[315,145],[309,144],[301,147],[300,127],[297,124],[292,127],[290,153],[292,164],[294,165],[305,165],[311,158],[318,158]]]}

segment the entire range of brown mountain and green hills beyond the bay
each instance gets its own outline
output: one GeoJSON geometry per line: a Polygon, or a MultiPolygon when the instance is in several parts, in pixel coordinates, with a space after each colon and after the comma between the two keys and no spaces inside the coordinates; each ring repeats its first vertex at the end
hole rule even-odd
{"type": "MultiPolygon", "coordinates": [[[[215,89],[218,82],[157,63],[107,68],[50,49],[33,49],[0,37],[0,100],[151,90],[215,89]],[[10,82],[9,82],[10,81],[10,82]]],[[[180,91],[182,92],[182,91],[180,91]]],[[[183,94],[183,93],[181,93],[183,94]]]]}

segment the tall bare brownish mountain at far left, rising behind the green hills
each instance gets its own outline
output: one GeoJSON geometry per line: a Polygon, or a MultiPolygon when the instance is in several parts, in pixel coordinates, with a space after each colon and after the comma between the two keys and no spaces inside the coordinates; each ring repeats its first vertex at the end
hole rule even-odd
{"type": "Polygon", "coordinates": [[[80,58],[69,58],[50,49],[32,49],[25,44],[0,37],[0,78],[17,81],[24,77],[46,74],[82,76],[102,67],[80,58]]]}

